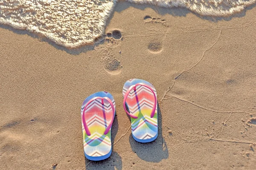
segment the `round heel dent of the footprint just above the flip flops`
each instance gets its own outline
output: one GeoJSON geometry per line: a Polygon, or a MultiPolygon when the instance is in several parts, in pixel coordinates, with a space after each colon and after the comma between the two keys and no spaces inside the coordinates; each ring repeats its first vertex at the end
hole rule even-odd
{"type": "Polygon", "coordinates": [[[117,59],[111,59],[111,58],[107,58],[105,59],[104,62],[105,65],[105,71],[109,74],[112,75],[117,75],[120,74],[122,71],[122,65],[120,63],[120,61],[118,61],[117,59]]]}

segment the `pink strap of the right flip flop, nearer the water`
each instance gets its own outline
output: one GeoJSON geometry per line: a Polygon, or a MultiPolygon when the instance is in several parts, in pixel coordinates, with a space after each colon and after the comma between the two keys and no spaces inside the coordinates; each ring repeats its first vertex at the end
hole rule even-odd
{"type": "Polygon", "coordinates": [[[157,107],[157,97],[156,97],[156,95],[155,95],[153,89],[152,89],[149,85],[146,85],[146,84],[144,84],[144,83],[137,83],[136,85],[132,85],[132,86],[131,86],[130,88],[128,88],[128,90],[126,91],[125,96],[124,96],[124,101],[123,101],[123,107],[124,107],[124,109],[125,109],[125,112],[126,112],[129,116],[131,116],[132,118],[134,118],[134,119],[137,119],[137,118],[138,118],[138,116],[134,116],[133,114],[129,113],[129,112],[126,110],[126,108],[125,108],[125,101],[126,101],[128,95],[129,95],[131,89],[134,89],[134,91],[135,91],[135,90],[136,90],[136,86],[138,86],[138,85],[142,85],[142,86],[144,86],[144,87],[146,87],[146,88],[149,88],[149,90],[151,90],[152,93],[154,94],[154,107],[153,107],[153,109],[152,109],[152,111],[151,111],[151,114],[150,114],[150,117],[152,118],[152,117],[154,117],[154,114],[155,114],[155,111],[156,111],[156,107],[157,107]]]}

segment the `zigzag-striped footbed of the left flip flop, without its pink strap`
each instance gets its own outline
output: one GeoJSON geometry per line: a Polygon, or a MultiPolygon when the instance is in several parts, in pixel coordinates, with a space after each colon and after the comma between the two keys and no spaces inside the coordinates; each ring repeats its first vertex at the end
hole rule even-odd
{"type": "MultiPolygon", "coordinates": [[[[84,100],[83,105],[81,106],[81,118],[87,102],[96,96],[108,97],[113,102],[114,109],[116,108],[115,101],[111,94],[103,91],[97,92],[84,100]]],[[[81,121],[84,153],[87,156],[94,157],[107,155],[111,151],[111,130],[106,135],[104,135],[104,131],[111,123],[111,119],[114,119],[110,103],[104,99],[104,104],[102,105],[101,99],[96,99],[86,107],[84,116],[87,127],[91,133],[90,136],[87,136],[84,130],[83,121],[81,121]]]]}

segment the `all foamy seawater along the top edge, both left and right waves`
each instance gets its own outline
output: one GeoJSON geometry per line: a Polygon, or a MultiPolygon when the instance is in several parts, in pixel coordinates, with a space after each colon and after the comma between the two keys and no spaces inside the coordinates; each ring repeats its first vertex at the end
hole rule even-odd
{"type": "MultiPolygon", "coordinates": [[[[162,7],[183,7],[206,16],[227,16],[256,0],[127,0],[162,7]]],[[[0,23],[48,37],[75,48],[104,33],[117,0],[0,0],[0,23]]]]}

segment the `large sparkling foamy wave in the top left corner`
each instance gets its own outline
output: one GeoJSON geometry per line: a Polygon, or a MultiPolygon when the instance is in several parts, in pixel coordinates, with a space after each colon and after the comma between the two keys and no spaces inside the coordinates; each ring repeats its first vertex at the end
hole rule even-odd
{"type": "Polygon", "coordinates": [[[0,0],[0,23],[74,48],[104,33],[114,0],[0,0]]]}

